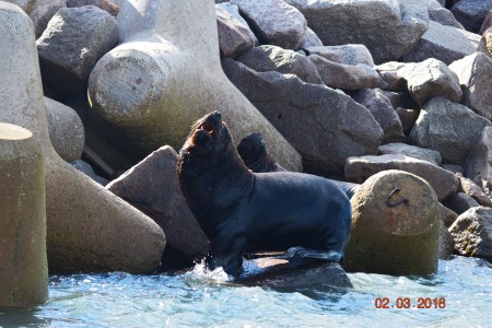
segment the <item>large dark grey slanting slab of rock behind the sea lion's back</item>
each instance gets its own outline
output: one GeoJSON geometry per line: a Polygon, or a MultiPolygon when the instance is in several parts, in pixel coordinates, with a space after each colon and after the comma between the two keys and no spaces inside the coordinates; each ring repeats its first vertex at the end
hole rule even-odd
{"type": "Polygon", "coordinates": [[[371,113],[348,95],[294,75],[255,72],[231,59],[223,69],[302,154],[306,171],[341,174],[351,154],[376,153],[383,131],[371,113]]]}

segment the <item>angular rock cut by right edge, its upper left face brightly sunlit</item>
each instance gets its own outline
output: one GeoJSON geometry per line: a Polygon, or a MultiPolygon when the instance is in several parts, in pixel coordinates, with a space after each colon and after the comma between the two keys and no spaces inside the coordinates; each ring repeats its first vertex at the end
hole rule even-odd
{"type": "Polygon", "coordinates": [[[475,52],[461,60],[453,62],[449,68],[458,75],[462,89],[462,103],[492,119],[492,58],[482,52],[475,52]]]}

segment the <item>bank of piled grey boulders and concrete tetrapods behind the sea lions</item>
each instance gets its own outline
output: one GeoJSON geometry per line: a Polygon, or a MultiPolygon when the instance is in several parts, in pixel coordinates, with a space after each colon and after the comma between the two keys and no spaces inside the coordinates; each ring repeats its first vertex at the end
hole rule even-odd
{"type": "Polygon", "coordinates": [[[490,1],[8,2],[0,122],[39,143],[50,273],[203,258],[176,151],[211,110],[286,169],[363,186],[347,270],[492,259],[490,1]]]}

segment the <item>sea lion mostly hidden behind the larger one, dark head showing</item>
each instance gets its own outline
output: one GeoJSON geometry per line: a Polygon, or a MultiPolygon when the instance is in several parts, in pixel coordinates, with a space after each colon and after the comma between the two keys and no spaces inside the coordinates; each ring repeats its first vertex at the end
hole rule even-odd
{"type": "MultiPolygon", "coordinates": [[[[273,156],[267,151],[267,144],[260,132],[253,132],[244,137],[237,145],[237,152],[244,164],[254,173],[284,172],[273,156]]],[[[352,198],[361,185],[332,180],[349,198],[352,198]]]]}

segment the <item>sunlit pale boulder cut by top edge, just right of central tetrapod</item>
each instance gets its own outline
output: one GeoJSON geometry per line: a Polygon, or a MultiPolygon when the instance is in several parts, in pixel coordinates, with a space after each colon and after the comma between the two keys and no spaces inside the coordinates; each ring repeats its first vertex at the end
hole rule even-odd
{"type": "Polygon", "coordinates": [[[303,14],[282,0],[231,0],[251,24],[261,44],[297,49],[307,28],[303,14]]]}

